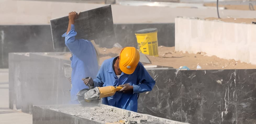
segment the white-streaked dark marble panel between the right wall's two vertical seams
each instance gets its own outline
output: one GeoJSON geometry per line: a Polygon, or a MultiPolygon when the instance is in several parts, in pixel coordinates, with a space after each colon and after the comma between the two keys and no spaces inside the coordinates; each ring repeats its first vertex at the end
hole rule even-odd
{"type": "Polygon", "coordinates": [[[182,111],[188,123],[236,122],[235,70],[181,71],[182,111]]]}

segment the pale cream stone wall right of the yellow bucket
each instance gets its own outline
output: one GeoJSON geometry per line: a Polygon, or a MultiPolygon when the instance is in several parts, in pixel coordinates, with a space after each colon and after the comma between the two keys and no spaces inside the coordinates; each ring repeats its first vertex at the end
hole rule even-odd
{"type": "Polygon", "coordinates": [[[256,25],[175,19],[175,50],[256,64],[256,25]]]}

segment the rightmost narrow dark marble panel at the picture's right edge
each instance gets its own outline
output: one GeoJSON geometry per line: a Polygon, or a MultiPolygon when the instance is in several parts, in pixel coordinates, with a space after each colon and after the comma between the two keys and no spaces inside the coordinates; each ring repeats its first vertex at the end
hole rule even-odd
{"type": "Polygon", "coordinates": [[[256,71],[236,70],[237,123],[256,123],[256,71]]]}

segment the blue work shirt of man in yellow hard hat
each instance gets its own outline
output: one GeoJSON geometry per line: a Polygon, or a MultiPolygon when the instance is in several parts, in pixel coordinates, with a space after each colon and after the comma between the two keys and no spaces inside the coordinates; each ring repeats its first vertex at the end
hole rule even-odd
{"type": "Polygon", "coordinates": [[[114,96],[102,98],[102,104],[137,112],[138,93],[151,91],[155,85],[155,81],[148,74],[141,62],[138,63],[132,74],[122,72],[118,79],[113,69],[114,59],[110,58],[102,63],[97,78],[93,80],[94,86],[118,86],[129,83],[133,86],[133,93],[116,92],[114,96]]]}

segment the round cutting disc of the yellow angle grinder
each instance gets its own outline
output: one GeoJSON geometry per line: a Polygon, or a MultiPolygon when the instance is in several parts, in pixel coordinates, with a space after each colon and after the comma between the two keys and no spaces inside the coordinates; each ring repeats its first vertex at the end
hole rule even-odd
{"type": "Polygon", "coordinates": [[[82,105],[86,105],[86,106],[95,106],[97,104],[99,104],[99,100],[91,100],[91,101],[87,101],[85,100],[85,93],[90,90],[88,88],[82,89],[77,93],[77,100],[80,104],[82,105]]]}

